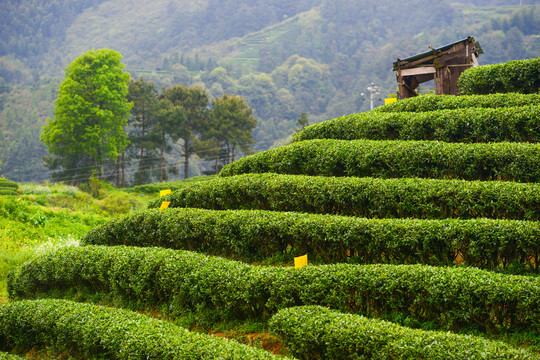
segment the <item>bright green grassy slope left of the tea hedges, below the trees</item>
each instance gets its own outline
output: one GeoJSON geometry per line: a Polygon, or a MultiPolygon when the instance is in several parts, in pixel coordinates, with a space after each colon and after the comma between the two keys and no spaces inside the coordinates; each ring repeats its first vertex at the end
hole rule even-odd
{"type": "Polygon", "coordinates": [[[85,189],[63,184],[20,184],[19,196],[0,195],[0,302],[7,301],[8,273],[46,251],[77,246],[92,228],[146,208],[164,189],[212,177],[115,189],[96,182],[85,189]]]}

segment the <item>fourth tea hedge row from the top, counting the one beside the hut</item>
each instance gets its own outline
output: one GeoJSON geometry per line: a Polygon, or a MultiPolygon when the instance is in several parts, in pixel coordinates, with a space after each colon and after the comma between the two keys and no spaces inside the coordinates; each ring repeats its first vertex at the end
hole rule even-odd
{"type": "Polygon", "coordinates": [[[248,173],[540,182],[540,144],[316,139],[226,165],[248,173]]]}

